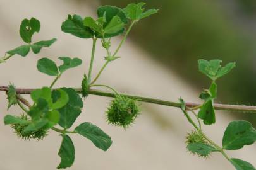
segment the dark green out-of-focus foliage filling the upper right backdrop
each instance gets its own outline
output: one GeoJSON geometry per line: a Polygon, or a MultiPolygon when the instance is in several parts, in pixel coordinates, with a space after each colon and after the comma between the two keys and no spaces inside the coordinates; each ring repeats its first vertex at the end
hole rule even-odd
{"type": "MultiPolygon", "coordinates": [[[[139,1],[101,0],[102,4],[125,6],[139,1]]],[[[233,2],[235,3],[235,2],[233,2]]],[[[236,1],[241,9],[254,1],[236,1]],[[239,2],[239,3],[238,3],[239,2]]],[[[170,69],[194,85],[207,88],[209,81],[202,79],[195,64],[198,59],[218,59],[223,62],[236,61],[233,74],[225,80],[218,80],[221,87],[219,98],[225,103],[250,105],[256,103],[253,89],[256,87],[253,75],[253,35],[245,31],[243,23],[232,18],[232,6],[221,1],[204,0],[149,0],[147,6],[161,9],[157,16],[147,18],[143,25],[136,25],[131,34],[137,43],[154,54],[170,69]],[[229,8],[229,9],[226,9],[229,8]],[[182,67],[181,67],[182,65],[182,67]],[[225,82],[224,82],[225,81],[225,82]],[[243,84],[243,86],[241,86],[243,84]]],[[[243,10],[241,10],[243,11],[243,10]]]]}

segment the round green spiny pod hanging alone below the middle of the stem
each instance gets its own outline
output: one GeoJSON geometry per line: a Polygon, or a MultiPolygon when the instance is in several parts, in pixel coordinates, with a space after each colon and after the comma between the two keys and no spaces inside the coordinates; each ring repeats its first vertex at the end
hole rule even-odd
{"type": "Polygon", "coordinates": [[[140,110],[134,99],[116,95],[107,108],[107,122],[112,125],[127,128],[135,121],[140,110]]]}

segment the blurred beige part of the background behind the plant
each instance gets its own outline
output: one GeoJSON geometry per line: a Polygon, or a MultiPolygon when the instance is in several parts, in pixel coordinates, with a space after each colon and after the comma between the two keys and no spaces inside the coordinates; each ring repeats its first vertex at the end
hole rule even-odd
{"type": "MultiPolygon", "coordinates": [[[[35,65],[40,57],[51,57],[58,62],[59,56],[80,57],[82,66],[63,74],[56,86],[80,86],[82,75],[87,71],[91,40],[83,40],[61,32],[61,22],[68,14],[81,16],[95,15],[94,3],[88,1],[20,1],[0,0],[0,52],[11,50],[22,45],[18,29],[23,18],[34,16],[41,21],[41,30],[35,34],[34,40],[58,38],[51,48],[44,48],[39,55],[30,53],[26,58],[15,56],[6,64],[0,65],[0,84],[12,82],[19,88],[39,88],[51,84],[54,77],[46,76],[37,71],[35,65]]],[[[140,23],[143,24],[143,21],[140,23]]],[[[133,31],[136,31],[136,26],[133,31]]],[[[119,39],[114,39],[115,47],[119,39]]],[[[95,72],[104,63],[104,50],[98,43],[96,52],[95,72]]],[[[122,48],[121,59],[111,63],[102,74],[100,83],[108,84],[118,91],[141,94],[156,98],[177,101],[182,96],[186,101],[197,101],[198,91],[186,84],[168,68],[163,68],[135,44],[128,42],[122,48]]],[[[196,63],[195,63],[196,64],[196,63]]],[[[0,93],[0,119],[6,114],[20,114],[18,106],[6,111],[6,95],[0,93]]],[[[75,122],[92,122],[101,127],[113,138],[113,145],[107,152],[97,149],[94,145],[78,135],[71,135],[76,149],[75,163],[70,169],[234,169],[220,154],[212,154],[205,161],[190,155],[184,144],[185,135],[192,129],[185,116],[176,108],[142,104],[140,115],[133,127],[121,130],[107,125],[104,111],[109,98],[89,96],[85,99],[83,112],[75,122]]],[[[217,123],[205,127],[212,139],[221,144],[221,138],[228,122],[234,120],[229,113],[217,111],[217,123]]],[[[23,141],[16,137],[9,126],[0,122],[0,169],[29,170],[55,169],[59,163],[58,149],[61,137],[51,132],[43,141],[23,141]]],[[[229,152],[228,152],[229,153],[229,152]]],[[[229,153],[256,166],[255,145],[229,153]]]]}

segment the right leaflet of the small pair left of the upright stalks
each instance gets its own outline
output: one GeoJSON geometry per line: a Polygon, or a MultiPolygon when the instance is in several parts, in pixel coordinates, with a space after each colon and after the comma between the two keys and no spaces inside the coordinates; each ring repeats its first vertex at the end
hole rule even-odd
{"type": "Polygon", "coordinates": [[[63,65],[59,66],[59,71],[63,73],[67,69],[77,67],[82,64],[82,60],[78,58],[70,59],[70,57],[59,57],[60,60],[63,60],[63,65]]]}

